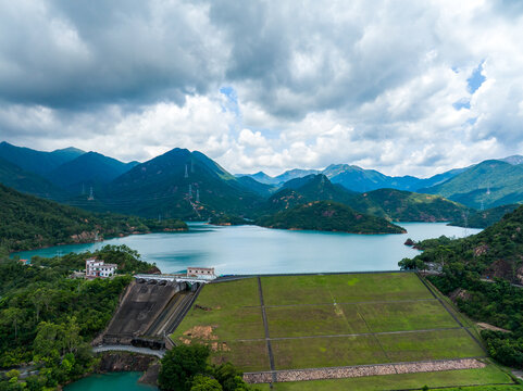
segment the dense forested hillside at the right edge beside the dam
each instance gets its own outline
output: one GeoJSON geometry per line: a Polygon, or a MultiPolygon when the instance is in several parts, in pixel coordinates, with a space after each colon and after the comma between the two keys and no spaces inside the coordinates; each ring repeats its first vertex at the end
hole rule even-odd
{"type": "Polygon", "coordinates": [[[402,268],[440,268],[427,278],[478,321],[510,330],[483,331],[488,351],[500,363],[523,368],[523,206],[499,223],[464,239],[424,240],[424,252],[404,258],[402,268]]]}

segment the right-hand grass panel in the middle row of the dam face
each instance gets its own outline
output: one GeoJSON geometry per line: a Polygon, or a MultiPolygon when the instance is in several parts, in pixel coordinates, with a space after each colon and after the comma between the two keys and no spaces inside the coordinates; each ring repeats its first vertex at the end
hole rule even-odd
{"type": "MultiPolygon", "coordinates": [[[[346,304],[344,308],[351,306],[346,304]]],[[[458,327],[456,320],[436,300],[358,304],[358,312],[373,332],[458,327]]]]}

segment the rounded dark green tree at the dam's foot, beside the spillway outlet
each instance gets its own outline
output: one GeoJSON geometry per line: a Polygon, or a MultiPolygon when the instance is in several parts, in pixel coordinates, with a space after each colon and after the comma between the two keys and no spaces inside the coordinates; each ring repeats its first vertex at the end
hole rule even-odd
{"type": "Polygon", "coordinates": [[[162,390],[189,391],[190,381],[206,371],[209,346],[201,344],[179,345],[165,353],[158,384],[162,390]]]}

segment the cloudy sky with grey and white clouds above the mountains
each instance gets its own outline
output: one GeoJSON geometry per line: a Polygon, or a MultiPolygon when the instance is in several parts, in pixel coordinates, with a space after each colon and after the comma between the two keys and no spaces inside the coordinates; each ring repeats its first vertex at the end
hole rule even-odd
{"type": "Polygon", "coordinates": [[[233,173],[523,154],[520,0],[0,0],[0,140],[233,173]]]}

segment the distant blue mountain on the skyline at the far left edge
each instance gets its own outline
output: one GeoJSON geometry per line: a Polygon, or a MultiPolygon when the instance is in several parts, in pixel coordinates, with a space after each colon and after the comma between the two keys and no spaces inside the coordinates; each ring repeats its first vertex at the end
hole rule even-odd
{"type": "Polygon", "coordinates": [[[50,173],[58,166],[70,162],[85,152],[76,148],[66,148],[52,152],[36,151],[29,148],[0,142],[0,157],[11,162],[22,169],[35,174],[50,173]]]}

